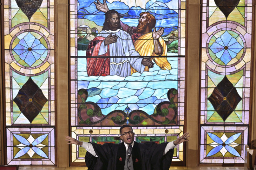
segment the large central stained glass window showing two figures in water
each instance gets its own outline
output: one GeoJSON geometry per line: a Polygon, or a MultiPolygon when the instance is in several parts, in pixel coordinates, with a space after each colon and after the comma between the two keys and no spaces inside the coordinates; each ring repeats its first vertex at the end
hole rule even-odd
{"type": "MultiPolygon", "coordinates": [[[[138,142],[183,134],[185,16],[185,0],[70,1],[72,137],[119,143],[123,124],[138,142]]],[[[72,146],[71,162],[84,154],[72,146]]]]}

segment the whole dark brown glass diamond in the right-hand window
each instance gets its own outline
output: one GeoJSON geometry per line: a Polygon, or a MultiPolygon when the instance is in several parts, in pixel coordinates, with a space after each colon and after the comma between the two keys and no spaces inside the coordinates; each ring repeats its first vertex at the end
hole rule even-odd
{"type": "Polygon", "coordinates": [[[236,88],[228,80],[226,76],[221,82],[214,88],[213,93],[208,100],[213,105],[215,111],[225,121],[226,118],[234,111],[242,98],[237,93],[236,88]]]}

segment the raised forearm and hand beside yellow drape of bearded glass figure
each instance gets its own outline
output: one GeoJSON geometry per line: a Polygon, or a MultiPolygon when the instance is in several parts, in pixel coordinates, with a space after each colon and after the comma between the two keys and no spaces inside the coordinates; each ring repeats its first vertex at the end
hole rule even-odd
{"type": "Polygon", "coordinates": [[[156,29],[154,28],[153,31],[153,39],[154,39],[154,52],[155,54],[161,56],[164,52],[162,45],[159,42],[159,38],[163,35],[164,33],[164,28],[159,28],[158,31],[156,31],[156,29]]]}

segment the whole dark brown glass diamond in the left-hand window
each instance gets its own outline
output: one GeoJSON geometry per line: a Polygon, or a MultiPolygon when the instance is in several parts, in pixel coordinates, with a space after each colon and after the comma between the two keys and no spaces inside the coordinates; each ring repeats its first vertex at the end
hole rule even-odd
{"type": "Polygon", "coordinates": [[[42,90],[30,77],[19,90],[13,101],[31,123],[48,100],[45,98],[42,90]]]}

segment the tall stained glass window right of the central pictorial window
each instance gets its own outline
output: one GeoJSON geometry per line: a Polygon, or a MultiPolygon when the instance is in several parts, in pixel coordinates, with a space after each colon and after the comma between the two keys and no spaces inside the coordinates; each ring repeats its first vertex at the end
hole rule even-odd
{"type": "Polygon", "coordinates": [[[203,1],[200,163],[244,163],[251,38],[251,0],[203,1]]]}

